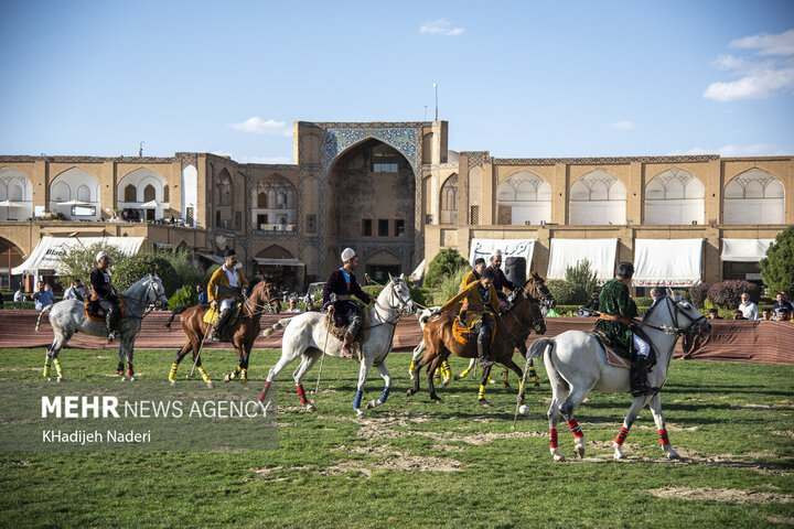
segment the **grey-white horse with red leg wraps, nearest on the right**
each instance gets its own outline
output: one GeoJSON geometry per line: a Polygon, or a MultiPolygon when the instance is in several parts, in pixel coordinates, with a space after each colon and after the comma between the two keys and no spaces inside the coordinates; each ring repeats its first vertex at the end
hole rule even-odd
{"type": "MultiPolygon", "coordinates": [[[[678,336],[682,334],[704,335],[711,332],[711,325],[706,316],[697,312],[689,303],[680,301],[678,294],[674,294],[669,289],[667,294],[656,302],[642,322],[637,322],[658,353],[656,365],[648,373],[648,385],[658,388],[667,381],[667,369],[678,336]]],[[[537,358],[541,354],[552,391],[551,406],[548,410],[551,455],[555,461],[565,461],[565,456],[557,445],[557,423],[561,413],[576,438],[577,455],[583,457],[584,434],[573,419],[573,410],[593,389],[627,392],[630,389],[629,369],[608,364],[603,347],[592,335],[581,331],[567,331],[555,338],[535,341],[529,348],[529,356],[537,358]],[[562,400],[564,398],[565,400],[562,400]]],[[[612,444],[614,458],[625,457],[623,442],[629,434],[629,429],[646,404],[650,404],[656,422],[662,449],[667,453],[668,458],[678,458],[678,453],[673,450],[667,436],[659,393],[634,398],[623,421],[623,428],[612,444]]]]}

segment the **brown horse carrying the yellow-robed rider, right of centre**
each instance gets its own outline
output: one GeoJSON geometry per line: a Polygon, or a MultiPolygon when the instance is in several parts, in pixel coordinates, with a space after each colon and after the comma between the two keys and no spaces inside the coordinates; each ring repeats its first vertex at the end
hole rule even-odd
{"type": "MultiPolygon", "coordinates": [[[[540,313],[538,301],[529,296],[532,280],[524,283],[515,296],[513,306],[496,317],[496,337],[491,344],[491,358],[511,368],[518,375],[518,380],[524,380],[524,371],[513,361],[513,350],[517,342],[526,339],[530,331],[537,334],[546,332],[546,324],[540,313]]],[[[431,319],[425,325],[425,345],[427,349],[425,356],[414,366],[414,387],[408,390],[408,397],[419,391],[419,371],[423,366],[428,366],[428,388],[430,398],[436,402],[441,399],[436,395],[433,386],[433,373],[436,369],[449,358],[451,353],[462,358],[476,358],[476,339],[470,339],[465,345],[458,342],[452,335],[452,325],[455,316],[450,314],[441,314],[437,319],[431,319]]],[[[481,404],[490,407],[485,400],[485,384],[491,375],[491,368],[487,366],[482,370],[480,380],[480,392],[478,400],[481,404]]],[[[518,388],[521,401],[524,402],[524,385],[518,388]]]]}

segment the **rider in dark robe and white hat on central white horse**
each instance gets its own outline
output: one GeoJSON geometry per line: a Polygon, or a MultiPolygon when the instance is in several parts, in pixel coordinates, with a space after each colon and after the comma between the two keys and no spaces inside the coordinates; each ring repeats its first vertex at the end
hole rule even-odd
{"type": "Polygon", "coordinates": [[[344,266],[339,270],[334,270],[325,281],[323,288],[323,306],[331,303],[334,310],[334,324],[337,327],[348,325],[347,332],[342,344],[342,358],[353,358],[351,345],[356,334],[361,331],[363,323],[362,314],[356,302],[351,298],[355,295],[364,303],[371,303],[372,298],[362,290],[358,282],[353,276],[353,271],[358,267],[358,257],[353,248],[345,248],[342,252],[342,262],[344,266]]]}

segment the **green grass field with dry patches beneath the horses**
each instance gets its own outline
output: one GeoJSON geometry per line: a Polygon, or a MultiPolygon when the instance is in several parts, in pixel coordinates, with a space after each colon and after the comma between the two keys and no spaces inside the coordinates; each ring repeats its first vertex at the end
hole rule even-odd
{"type": "MultiPolygon", "coordinates": [[[[255,352],[261,387],[277,352],[255,352]]],[[[0,381],[40,381],[43,349],[0,349],[0,381]]],[[[163,380],[173,352],[136,352],[141,380],[163,380]]],[[[65,349],[66,381],[106,381],[116,353],[65,349]]],[[[794,367],[679,361],[662,402],[673,445],[667,461],[648,410],[631,430],[625,461],[614,440],[630,399],[592,393],[577,413],[583,461],[560,428],[569,457],[548,451],[550,391],[527,395],[512,430],[515,393],[478,382],[408,398],[405,354],[389,357],[391,397],[363,419],[352,410],[357,365],[330,358],[315,413],[303,411],[290,374],[279,384],[279,449],[267,452],[0,454],[4,527],[784,527],[794,525],[794,367]]],[[[204,358],[221,380],[230,353],[204,358]]],[[[464,361],[453,358],[460,371],[464,361]]],[[[180,385],[187,361],[181,367],[180,385]]],[[[316,367],[307,379],[313,389],[316,367]]],[[[471,375],[470,375],[471,377],[471,375]]],[[[512,379],[515,381],[515,378],[512,379]]],[[[127,382],[125,382],[127,384],[127,382]]],[[[137,382],[136,382],[137,384],[137,382]]],[[[142,382],[141,382],[142,384],[142,382]]],[[[221,382],[223,384],[223,382],[221,382]]],[[[383,382],[373,373],[365,401],[383,382]]],[[[515,384],[514,384],[515,385],[515,384]]],[[[422,379],[422,390],[426,381],[422,379]]],[[[251,390],[256,391],[256,390],[251,390]]],[[[0,427],[2,428],[2,427],[0,427]]],[[[185,445],[190,440],[185,440],[185,445]]]]}

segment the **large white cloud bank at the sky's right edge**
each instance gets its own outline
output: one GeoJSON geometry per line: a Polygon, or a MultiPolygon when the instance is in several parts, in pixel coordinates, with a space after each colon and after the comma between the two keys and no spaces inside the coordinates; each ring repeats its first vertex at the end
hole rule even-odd
{"type": "MultiPolygon", "coordinates": [[[[738,39],[733,47],[758,50],[757,55],[794,55],[794,30],[770,35],[761,33],[738,39]]],[[[713,66],[732,73],[739,78],[711,83],[704,91],[706,99],[733,101],[737,99],[765,99],[779,94],[794,94],[794,60],[770,58],[751,61],[733,55],[720,55],[713,66]]]]}

